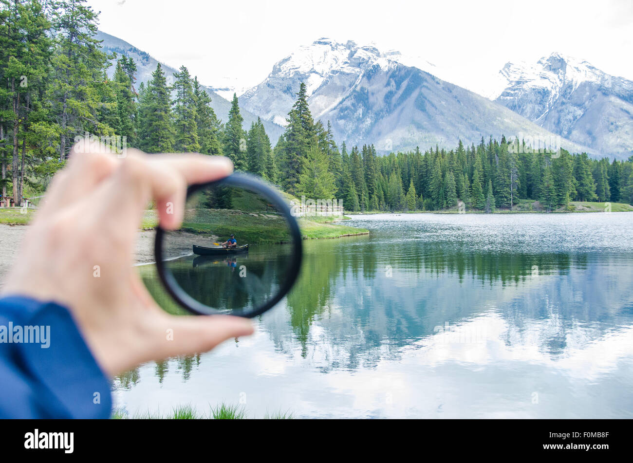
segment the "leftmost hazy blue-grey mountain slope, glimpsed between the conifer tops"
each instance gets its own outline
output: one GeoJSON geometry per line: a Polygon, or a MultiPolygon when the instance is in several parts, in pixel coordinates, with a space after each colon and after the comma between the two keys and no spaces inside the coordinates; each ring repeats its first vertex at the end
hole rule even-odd
{"type": "MultiPolygon", "coordinates": [[[[118,56],[125,55],[129,58],[134,59],[137,67],[137,87],[138,85],[141,85],[141,82],[147,83],[147,81],[152,78],[152,73],[156,70],[156,64],[158,63],[158,61],[149,56],[149,54],[128,44],[128,42],[125,42],[125,40],[118,39],[117,37],[106,34],[101,30],[97,32],[97,39],[103,40],[101,46],[103,47],[103,50],[105,52],[116,52],[118,56]]],[[[184,64],[186,65],[186,63],[184,64]]],[[[165,72],[167,83],[173,83],[173,73],[177,70],[168,65],[165,65],[165,63],[161,63],[161,66],[163,67],[163,71],[165,72]]],[[[110,75],[110,77],[112,77],[114,72],[115,66],[110,66],[110,68],[108,69],[108,74],[110,75]]],[[[218,118],[223,121],[227,121],[229,119],[229,110],[231,108],[230,101],[220,96],[220,94],[218,94],[219,92],[214,92],[210,87],[206,87],[204,85],[202,85],[202,87],[210,95],[211,107],[213,107],[213,111],[215,111],[218,118]]],[[[233,94],[226,94],[226,96],[232,99],[233,94]]],[[[248,109],[244,108],[242,105],[240,106],[240,112],[242,114],[242,117],[244,117],[244,128],[248,130],[251,122],[257,120],[258,114],[253,114],[249,112],[248,109]]],[[[279,136],[284,133],[284,128],[270,121],[263,121],[263,123],[266,129],[266,133],[268,133],[268,137],[270,137],[270,141],[274,144],[275,142],[277,142],[277,139],[279,139],[279,136]]]]}

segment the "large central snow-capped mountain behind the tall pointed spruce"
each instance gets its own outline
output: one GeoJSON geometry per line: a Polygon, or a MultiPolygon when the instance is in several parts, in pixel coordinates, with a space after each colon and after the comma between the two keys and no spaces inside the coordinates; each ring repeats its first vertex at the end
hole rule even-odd
{"type": "Polygon", "coordinates": [[[283,123],[305,82],[314,118],[329,120],[336,140],[373,143],[382,152],[453,147],[460,138],[477,142],[490,135],[556,137],[497,102],[435,77],[431,63],[416,59],[422,70],[403,62],[398,52],[319,39],[276,63],[241,102],[262,118],[283,123]]]}

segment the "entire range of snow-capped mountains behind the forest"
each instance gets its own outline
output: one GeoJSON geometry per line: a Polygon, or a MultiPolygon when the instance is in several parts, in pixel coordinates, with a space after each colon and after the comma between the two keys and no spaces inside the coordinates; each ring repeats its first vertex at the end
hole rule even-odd
{"type": "MultiPolygon", "coordinates": [[[[134,58],[139,83],[151,78],[156,59],[104,32],[99,39],[105,51],[134,58]]],[[[175,70],[163,68],[173,82],[175,70]]],[[[421,57],[324,38],[276,63],[256,87],[235,92],[244,127],[261,116],[273,144],[305,82],[314,118],[329,120],[335,139],[348,145],[375,144],[389,152],[523,135],[593,156],[633,154],[633,82],[586,61],[552,54],[534,65],[508,63],[485,97],[442,77],[452,80],[421,57]]],[[[204,89],[218,117],[227,120],[230,102],[223,96],[230,99],[235,86],[215,85],[204,89]]]]}

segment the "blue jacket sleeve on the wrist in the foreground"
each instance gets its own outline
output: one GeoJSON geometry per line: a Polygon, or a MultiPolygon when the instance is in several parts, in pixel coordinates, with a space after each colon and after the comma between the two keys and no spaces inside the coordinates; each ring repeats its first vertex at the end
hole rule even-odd
{"type": "Polygon", "coordinates": [[[66,307],[0,299],[0,418],[108,418],[110,381],[66,307]]]}

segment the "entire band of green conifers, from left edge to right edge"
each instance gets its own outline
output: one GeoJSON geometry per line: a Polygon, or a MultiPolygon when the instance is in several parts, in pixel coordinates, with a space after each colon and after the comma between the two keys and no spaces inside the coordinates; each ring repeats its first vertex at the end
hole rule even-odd
{"type": "Polygon", "coordinates": [[[261,120],[244,128],[237,96],[227,121],[219,120],[185,66],[170,85],[159,63],[137,86],[134,60],[101,49],[97,15],[85,0],[0,1],[3,196],[42,192],[73,141],[89,133],[121,137],[150,153],[228,156],[236,170],[298,197],[337,197],[348,211],[436,211],[460,201],[492,211],[522,199],[539,200],[546,210],[570,201],[633,203],[633,156],[610,162],[565,150],[533,152],[525,144],[517,150],[516,140],[503,136],[470,146],[460,141],[449,151],[379,156],[371,144],[348,151],[335,142],[329,121],[313,119],[303,83],[273,149],[261,120]]]}

